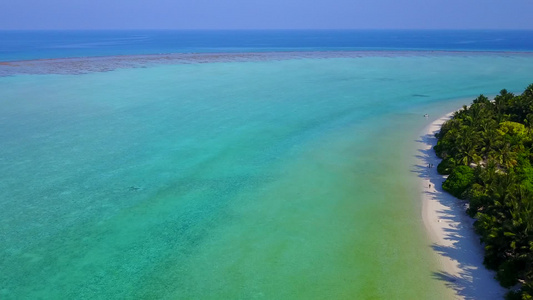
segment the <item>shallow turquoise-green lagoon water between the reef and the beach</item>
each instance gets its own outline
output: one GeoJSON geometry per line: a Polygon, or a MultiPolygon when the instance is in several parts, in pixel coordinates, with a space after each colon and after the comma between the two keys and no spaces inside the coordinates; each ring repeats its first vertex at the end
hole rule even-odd
{"type": "Polygon", "coordinates": [[[449,299],[414,141],[532,71],[376,55],[0,78],[0,298],[449,299]]]}

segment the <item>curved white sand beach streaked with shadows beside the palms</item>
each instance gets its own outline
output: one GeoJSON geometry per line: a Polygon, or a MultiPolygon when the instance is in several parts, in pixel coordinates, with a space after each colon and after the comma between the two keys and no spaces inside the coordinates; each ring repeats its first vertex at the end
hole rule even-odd
{"type": "Polygon", "coordinates": [[[455,299],[503,299],[506,290],[494,279],[495,273],[483,266],[483,247],[474,232],[474,220],[465,213],[465,202],[442,190],[445,176],[437,172],[440,159],[432,149],[437,143],[435,133],[452,114],[429,124],[417,140],[422,219],[441,268],[434,276],[453,289],[455,299]],[[429,164],[433,167],[428,168],[429,164]]]}

